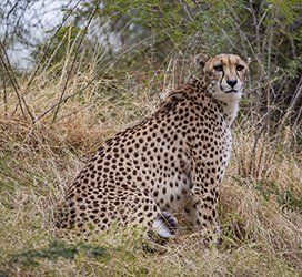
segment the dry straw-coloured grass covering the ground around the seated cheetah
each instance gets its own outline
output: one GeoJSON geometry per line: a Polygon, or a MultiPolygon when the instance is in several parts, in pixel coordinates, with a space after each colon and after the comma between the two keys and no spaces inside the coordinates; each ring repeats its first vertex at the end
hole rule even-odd
{"type": "MultiPolygon", "coordinates": [[[[66,187],[105,137],[150,114],[158,100],[150,83],[141,86],[131,75],[95,81],[78,93],[89,74],[69,82],[69,94],[77,95],[62,103],[53,123],[52,112],[34,125],[26,121],[14,112],[12,92],[1,105],[0,276],[301,276],[301,161],[282,151],[270,157],[264,138],[254,153],[253,130],[244,125],[234,132],[235,151],[221,187],[218,249],[203,249],[188,234],[165,254],[147,254],[140,232],[129,229],[62,243],[53,214],[66,187]]],[[[48,80],[38,76],[24,91],[37,117],[62,86],[48,80]]]]}

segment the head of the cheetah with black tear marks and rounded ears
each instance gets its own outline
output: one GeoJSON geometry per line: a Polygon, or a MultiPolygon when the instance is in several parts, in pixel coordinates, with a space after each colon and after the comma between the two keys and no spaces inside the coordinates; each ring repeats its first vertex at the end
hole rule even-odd
{"type": "Polygon", "coordinates": [[[250,59],[244,61],[235,54],[219,54],[213,58],[198,54],[194,61],[198,70],[203,71],[208,92],[217,100],[224,103],[240,100],[250,59]]]}

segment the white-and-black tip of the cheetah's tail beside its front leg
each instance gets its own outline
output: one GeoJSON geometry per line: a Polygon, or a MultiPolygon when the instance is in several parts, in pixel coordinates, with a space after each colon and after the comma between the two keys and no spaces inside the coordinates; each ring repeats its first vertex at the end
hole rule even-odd
{"type": "Polygon", "coordinates": [[[163,212],[154,219],[152,228],[162,238],[173,238],[177,236],[178,220],[172,214],[163,212]]]}

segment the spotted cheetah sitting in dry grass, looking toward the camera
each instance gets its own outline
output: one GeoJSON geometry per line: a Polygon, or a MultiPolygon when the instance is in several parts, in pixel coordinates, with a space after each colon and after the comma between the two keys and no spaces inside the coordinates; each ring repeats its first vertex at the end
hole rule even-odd
{"type": "Polygon", "coordinates": [[[250,60],[198,54],[194,62],[199,76],[98,150],[69,187],[58,227],[87,234],[91,226],[139,225],[169,239],[181,213],[198,234],[215,234],[218,191],[250,60]]]}

